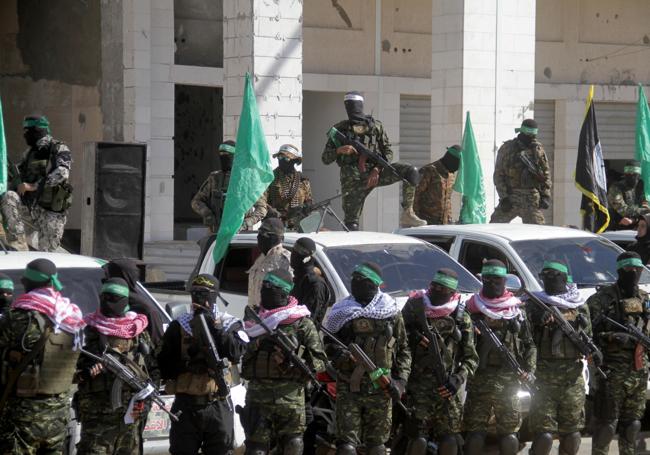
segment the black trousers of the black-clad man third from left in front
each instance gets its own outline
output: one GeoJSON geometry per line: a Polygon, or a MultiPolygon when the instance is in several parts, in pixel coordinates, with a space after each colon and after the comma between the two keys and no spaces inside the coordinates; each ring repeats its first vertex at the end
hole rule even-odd
{"type": "Polygon", "coordinates": [[[226,400],[178,394],[172,412],[181,411],[169,431],[172,455],[230,454],[234,442],[233,413],[226,400]]]}

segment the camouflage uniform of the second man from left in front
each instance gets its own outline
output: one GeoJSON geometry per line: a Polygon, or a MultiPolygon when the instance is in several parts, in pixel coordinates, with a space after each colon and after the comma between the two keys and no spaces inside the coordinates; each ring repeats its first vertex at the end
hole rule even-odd
{"type": "MultiPolygon", "coordinates": [[[[149,334],[145,331],[134,339],[107,337],[100,335],[93,327],[86,327],[85,349],[96,355],[102,355],[106,346],[118,350],[136,365],[143,367],[148,374],[154,367],[153,358],[144,358],[141,352],[153,352],[149,334]]],[[[77,444],[77,453],[93,455],[131,455],[138,453],[140,447],[139,427],[146,415],[134,423],[124,423],[124,413],[135,393],[128,385],[123,385],[122,406],[113,408],[111,390],[116,380],[108,372],[91,378],[87,372],[97,362],[82,356],[77,369],[83,375],[77,390],[78,420],[81,423],[81,439],[77,444]]]]}

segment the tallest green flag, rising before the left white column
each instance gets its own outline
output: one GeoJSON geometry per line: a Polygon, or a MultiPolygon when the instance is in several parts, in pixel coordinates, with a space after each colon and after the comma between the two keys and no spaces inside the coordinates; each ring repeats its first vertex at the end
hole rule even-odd
{"type": "Polygon", "coordinates": [[[273,181],[273,168],[250,74],[246,73],[235,159],[230,173],[226,203],[213,252],[217,264],[228,250],[233,236],[239,231],[246,212],[264,194],[273,181]]]}

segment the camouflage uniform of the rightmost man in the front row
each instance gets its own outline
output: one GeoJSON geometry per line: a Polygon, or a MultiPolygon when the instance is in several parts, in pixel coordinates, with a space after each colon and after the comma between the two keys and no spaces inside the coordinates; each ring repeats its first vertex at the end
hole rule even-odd
{"type": "MultiPolygon", "coordinates": [[[[607,322],[599,321],[599,316],[607,315],[622,324],[632,323],[648,335],[650,334],[647,324],[650,318],[648,299],[648,293],[640,289],[634,297],[624,299],[620,295],[618,285],[613,284],[600,288],[587,300],[591,320],[594,323],[594,341],[603,352],[604,370],[607,374],[606,380],[598,377],[596,384],[594,400],[596,425],[601,429],[605,428],[613,436],[618,423],[620,431],[618,448],[622,455],[636,453],[635,438],[628,440],[626,434],[627,429],[635,425],[645,411],[648,355],[628,337],[623,336],[625,341],[612,339],[616,334],[621,335],[619,329],[607,322]]],[[[607,454],[609,442],[599,441],[597,434],[594,433],[591,453],[607,454]]]]}

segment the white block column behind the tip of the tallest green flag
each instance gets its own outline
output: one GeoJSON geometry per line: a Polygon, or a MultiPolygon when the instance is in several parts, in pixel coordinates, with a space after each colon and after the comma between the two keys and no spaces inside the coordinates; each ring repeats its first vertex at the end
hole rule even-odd
{"type": "Polygon", "coordinates": [[[224,0],[224,137],[235,139],[244,75],[253,75],[271,153],[302,147],[302,1],[224,0]]]}

